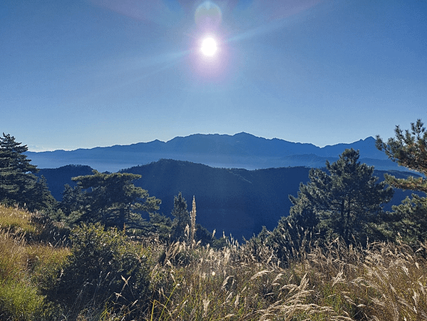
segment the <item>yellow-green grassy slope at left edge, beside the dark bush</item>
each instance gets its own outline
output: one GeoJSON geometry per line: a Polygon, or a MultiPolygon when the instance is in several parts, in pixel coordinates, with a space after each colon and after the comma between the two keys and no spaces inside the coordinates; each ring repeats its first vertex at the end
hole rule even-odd
{"type": "Polygon", "coordinates": [[[41,288],[69,254],[50,243],[29,243],[41,233],[34,214],[0,206],[0,320],[45,320],[48,305],[41,288]]]}

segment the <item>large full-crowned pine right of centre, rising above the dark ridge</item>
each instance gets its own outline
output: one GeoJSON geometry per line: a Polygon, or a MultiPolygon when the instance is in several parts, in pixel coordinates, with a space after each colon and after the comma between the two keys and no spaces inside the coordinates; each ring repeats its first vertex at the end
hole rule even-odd
{"type": "Polygon", "coordinates": [[[292,220],[303,228],[324,230],[327,237],[340,236],[346,242],[364,243],[374,235],[373,225],[382,204],[393,195],[386,183],[376,183],[374,166],[361,164],[359,151],[346,149],[335,163],[326,161],[326,170],[309,172],[309,182],[299,186],[298,197],[290,196],[292,220]]]}

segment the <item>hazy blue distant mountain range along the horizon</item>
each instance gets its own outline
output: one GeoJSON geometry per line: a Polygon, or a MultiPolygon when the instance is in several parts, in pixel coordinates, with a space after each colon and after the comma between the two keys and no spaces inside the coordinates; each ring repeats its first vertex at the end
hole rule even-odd
{"type": "Polygon", "coordinates": [[[385,153],[375,147],[375,139],[368,137],[354,143],[339,143],[322,148],[311,143],[292,143],[282,139],[261,138],[249,133],[233,136],[195,134],[176,137],[168,142],[151,141],[126,146],[96,147],[75,151],[27,152],[31,163],[38,168],[58,168],[64,165],[89,165],[98,171],[115,172],[160,159],[175,159],[202,163],[216,168],[280,168],[307,166],[323,167],[325,161],[334,162],[346,148],[360,151],[362,163],[379,170],[398,168],[385,153]]]}

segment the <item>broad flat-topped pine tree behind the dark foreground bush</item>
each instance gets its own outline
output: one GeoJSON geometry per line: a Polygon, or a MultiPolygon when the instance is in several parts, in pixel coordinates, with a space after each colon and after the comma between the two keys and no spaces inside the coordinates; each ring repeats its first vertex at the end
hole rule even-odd
{"type": "Polygon", "coordinates": [[[78,188],[66,188],[61,207],[66,208],[68,215],[81,213],[83,222],[101,222],[120,229],[138,228],[141,223],[138,212],[158,210],[161,203],[150,197],[147,190],[133,185],[132,181],[138,178],[140,175],[99,173],[96,170],[93,175],[75,177],[73,180],[78,183],[78,188]],[[86,193],[81,193],[79,188],[86,193]]]}

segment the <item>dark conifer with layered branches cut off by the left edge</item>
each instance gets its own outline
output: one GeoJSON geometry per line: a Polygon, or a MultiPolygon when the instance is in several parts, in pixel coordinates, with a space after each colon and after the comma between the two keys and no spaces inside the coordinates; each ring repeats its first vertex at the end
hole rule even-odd
{"type": "Polygon", "coordinates": [[[26,145],[3,133],[0,138],[0,202],[29,210],[52,210],[56,200],[47,188],[46,179],[36,178],[38,169],[24,153],[26,145]]]}

